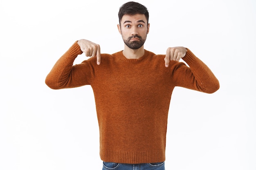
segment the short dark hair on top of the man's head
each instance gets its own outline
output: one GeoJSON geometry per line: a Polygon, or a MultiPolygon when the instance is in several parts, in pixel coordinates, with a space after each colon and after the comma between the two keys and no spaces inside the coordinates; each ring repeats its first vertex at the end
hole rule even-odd
{"type": "Polygon", "coordinates": [[[144,14],[148,22],[148,17],[149,17],[148,9],[144,5],[139,4],[138,2],[131,1],[123,4],[119,8],[119,12],[118,12],[119,24],[121,24],[120,22],[124,15],[135,15],[135,14],[144,14]]]}

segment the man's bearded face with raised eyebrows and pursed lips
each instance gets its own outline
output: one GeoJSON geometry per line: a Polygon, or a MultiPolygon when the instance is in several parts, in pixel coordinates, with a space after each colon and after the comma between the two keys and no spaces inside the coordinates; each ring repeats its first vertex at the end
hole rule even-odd
{"type": "Polygon", "coordinates": [[[143,14],[124,15],[118,30],[126,46],[130,49],[139,49],[146,41],[149,24],[143,14]]]}

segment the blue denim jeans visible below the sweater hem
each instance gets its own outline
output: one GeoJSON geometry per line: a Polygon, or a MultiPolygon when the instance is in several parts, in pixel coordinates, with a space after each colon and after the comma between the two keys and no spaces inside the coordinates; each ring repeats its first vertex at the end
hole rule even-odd
{"type": "Polygon", "coordinates": [[[114,163],[114,162],[103,161],[102,170],[165,170],[165,169],[164,169],[164,162],[128,164],[128,163],[114,163]]]}

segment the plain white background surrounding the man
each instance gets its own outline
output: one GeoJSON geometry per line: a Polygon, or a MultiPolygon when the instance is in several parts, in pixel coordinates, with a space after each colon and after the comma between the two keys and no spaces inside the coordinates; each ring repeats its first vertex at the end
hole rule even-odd
{"type": "MultiPolygon", "coordinates": [[[[0,170],[101,170],[91,87],[52,90],[44,81],[76,40],[121,51],[125,2],[0,1],[0,170]]],[[[137,2],[150,14],[145,49],[185,46],[220,81],[213,94],[174,89],[166,170],[256,170],[256,2],[137,2]]]]}

